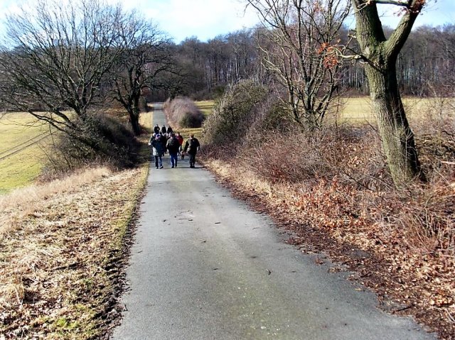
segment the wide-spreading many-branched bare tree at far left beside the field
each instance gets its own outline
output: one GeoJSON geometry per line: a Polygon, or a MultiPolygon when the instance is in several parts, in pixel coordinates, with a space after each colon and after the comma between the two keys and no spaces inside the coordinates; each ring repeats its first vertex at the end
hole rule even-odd
{"type": "Polygon", "coordinates": [[[1,101],[77,136],[76,122],[100,104],[103,78],[122,51],[121,14],[102,0],[38,0],[33,11],[9,16],[1,101]]]}

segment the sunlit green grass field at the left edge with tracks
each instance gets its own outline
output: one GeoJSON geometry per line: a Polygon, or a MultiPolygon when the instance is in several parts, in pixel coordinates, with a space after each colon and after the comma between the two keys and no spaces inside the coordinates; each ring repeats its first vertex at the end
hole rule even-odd
{"type": "Polygon", "coordinates": [[[46,131],[48,127],[38,124],[30,114],[1,116],[0,158],[3,159],[0,159],[0,194],[30,185],[40,175],[44,160],[41,143],[28,144],[33,138],[45,136],[46,131]]]}

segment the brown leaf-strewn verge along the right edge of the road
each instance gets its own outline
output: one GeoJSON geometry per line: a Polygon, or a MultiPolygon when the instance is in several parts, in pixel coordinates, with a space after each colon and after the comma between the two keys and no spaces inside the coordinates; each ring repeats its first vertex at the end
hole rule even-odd
{"type": "Polygon", "coordinates": [[[301,185],[261,180],[239,163],[205,159],[204,164],[236,197],[291,234],[289,243],[318,253],[316,264],[330,258],[339,264],[333,270],[353,271],[352,280],[378,294],[378,307],[412,315],[440,339],[455,339],[453,258],[407,246],[399,228],[369,224],[368,214],[357,214],[361,209],[338,211],[353,195],[336,182],[306,192],[301,185]]]}

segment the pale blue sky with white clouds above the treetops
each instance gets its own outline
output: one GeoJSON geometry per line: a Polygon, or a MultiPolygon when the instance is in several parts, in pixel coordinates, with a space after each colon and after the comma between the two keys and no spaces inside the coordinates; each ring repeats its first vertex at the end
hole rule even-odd
{"type": "MultiPolygon", "coordinates": [[[[8,11],[17,11],[20,4],[33,6],[35,0],[0,0],[0,20],[8,11]]],[[[64,1],[64,0],[63,0],[64,1]]],[[[73,0],[74,1],[74,0],[73,0]]],[[[124,4],[126,9],[139,9],[144,16],[151,18],[162,31],[168,33],[176,43],[196,36],[208,40],[216,35],[250,28],[258,23],[252,10],[245,11],[241,0],[107,0],[109,3],[124,4]]],[[[394,15],[396,6],[380,5],[380,9],[390,9],[382,16],[382,22],[394,26],[400,18],[394,15]]],[[[427,9],[419,15],[416,26],[439,26],[455,23],[454,0],[430,0],[427,9]]],[[[354,26],[354,25],[352,25],[354,26]]],[[[0,31],[4,31],[0,23],[0,31]]]]}

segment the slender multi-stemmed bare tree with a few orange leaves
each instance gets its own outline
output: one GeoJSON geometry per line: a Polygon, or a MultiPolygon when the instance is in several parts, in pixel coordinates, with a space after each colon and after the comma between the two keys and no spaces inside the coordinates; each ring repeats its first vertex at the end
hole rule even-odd
{"type": "Polygon", "coordinates": [[[264,66],[287,93],[285,104],[304,128],[321,126],[338,87],[340,29],[347,0],[247,0],[262,17],[264,66]]]}

